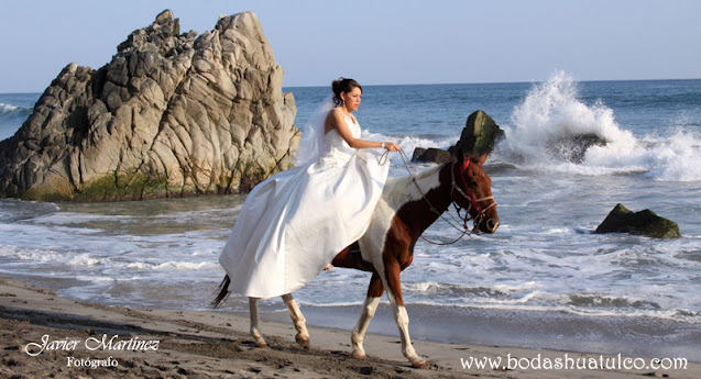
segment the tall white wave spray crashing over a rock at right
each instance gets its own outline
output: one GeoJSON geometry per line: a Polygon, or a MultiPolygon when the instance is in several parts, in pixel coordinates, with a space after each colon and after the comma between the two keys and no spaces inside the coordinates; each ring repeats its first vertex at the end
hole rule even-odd
{"type": "Polygon", "coordinates": [[[656,180],[701,180],[701,140],[679,130],[683,120],[669,126],[668,136],[638,138],[618,125],[613,110],[601,100],[589,105],[582,102],[577,82],[565,73],[534,85],[511,121],[499,153],[524,167],[588,176],[645,172],[656,180]],[[606,144],[589,147],[581,163],[570,161],[571,151],[567,149],[571,147],[559,144],[584,134],[594,134],[606,144]]]}

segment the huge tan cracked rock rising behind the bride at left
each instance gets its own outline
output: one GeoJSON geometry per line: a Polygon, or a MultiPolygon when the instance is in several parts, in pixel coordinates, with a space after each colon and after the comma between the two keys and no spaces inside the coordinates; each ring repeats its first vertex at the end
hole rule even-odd
{"type": "Polygon", "coordinates": [[[293,163],[299,131],[255,14],[180,34],[169,10],[98,70],[75,63],[0,142],[0,196],[125,200],[248,191],[293,163]]]}

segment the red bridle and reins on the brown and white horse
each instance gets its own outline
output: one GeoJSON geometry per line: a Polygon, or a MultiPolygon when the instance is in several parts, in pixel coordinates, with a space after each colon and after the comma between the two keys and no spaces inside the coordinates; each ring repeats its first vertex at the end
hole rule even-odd
{"type": "Polygon", "coordinates": [[[448,220],[448,219],[446,219],[443,216],[445,212],[438,211],[438,209],[436,209],[434,207],[434,204],[430,203],[428,198],[426,198],[426,193],[424,193],[421,188],[416,182],[416,176],[409,169],[409,165],[412,166],[412,168],[414,168],[415,172],[416,172],[416,167],[414,167],[414,164],[412,164],[412,160],[408,159],[408,157],[406,156],[406,153],[404,153],[404,151],[401,149],[399,153],[402,155],[402,160],[404,160],[404,167],[406,167],[407,171],[409,171],[409,175],[412,176],[412,181],[414,182],[414,185],[418,189],[419,193],[421,193],[421,199],[424,199],[428,203],[428,207],[429,207],[430,211],[436,213],[436,214],[438,214],[438,216],[441,218],[443,221],[446,221],[448,223],[448,225],[454,227],[456,230],[458,230],[461,233],[458,238],[456,238],[456,239],[453,239],[451,242],[447,242],[447,243],[430,241],[430,239],[426,238],[423,234],[420,235],[420,237],[424,238],[424,241],[426,241],[426,242],[428,242],[430,244],[434,244],[434,245],[451,245],[451,244],[454,244],[458,241],[462,239],[462,237],[464,237],[468,233],[470,233],[470,234],[479,234],[480,233],[479,225],[480,225],[480,223],[482,223],[482,221],[486,216],[486,213],[485,213],[486,210],[489,210],[492,207],[496,207],[496,201],[494,201],[494,197],[493,196],[475,199],[474,198],[474,193],[472,193],[472,191],[469,190],[470,187],[468,186],[468,180],[464,177],[464,172],[467,171],[468,167],[470,166],[470,159],[467,159],[464,161],[463,166],[460,168],[460,174],[461,174],[460,175],[460,179],[462,180],[462,185],[464,186],[464,189],[465,189],[467,193],[456,182],[456,165],[458,163],[453,161],[452,163],[452,167],[450,167],[450,177],[451,177],[450,201],[451,201],[451,204],[453,205],[453,208],[456,209],[456,213],[458,214],[458,218],[456,218],[450,212],[448,214],[450,215],[450,218],[452,219],[452,221],[454,223],[461,224],[461,226],[457,226],[453,222],[451,222],[450,220],[448,220]],[[469,205],[468,205],[467,209],[462,208],[456,201],[454,196],[453,196],[453,192],[456,192],[456,191],[460,196],[462,196],[464,199],[467,199],[469,201],[469,205]],[[486,208],[482,209],[482,207],[480,207],[480,202],[485,201],[485,200],[492,200],[492,203],[489,204],[486,208]],[[471,218],[470,210],[473,207],[474,207],[474,210],[477,211],[478,215],[474,216],[474,218],[471,218]],[[462,209],[465,210],[464,216],[460,215],[460,210],[462,210],[462,209]],[[470,227],[468,226],[468,221],[470,221],[470,220],[472,220],[472,230],[470,230],[470,227]]]}

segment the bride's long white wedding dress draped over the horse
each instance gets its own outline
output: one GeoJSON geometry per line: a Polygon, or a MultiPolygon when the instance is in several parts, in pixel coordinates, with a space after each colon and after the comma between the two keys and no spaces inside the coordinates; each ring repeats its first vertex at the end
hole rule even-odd
{"type": "MultiPolygon", "coordinates": [[[[346,116],[355,138],[360,125],[346,116]]],[[[358,241],[387,178],[380,149],[354,149],[332,130],[316,163],[282,171],[245,199],[219,257],[229,291],[253,298],[294,292],[358,241]]]]}

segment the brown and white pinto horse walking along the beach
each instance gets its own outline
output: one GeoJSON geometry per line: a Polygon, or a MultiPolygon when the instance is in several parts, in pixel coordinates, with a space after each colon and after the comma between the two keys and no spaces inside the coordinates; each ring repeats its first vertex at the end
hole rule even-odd
{"type": "MultiPolygon", "coordinates": [[[[467,210],[462,219],[463,235],[469,232],[469,220],[473,220],[474,230],[478,232],[496,231],[500,220],[491,190],[492,180],[482,168],[486,157],[486,154],[477,157],[462,153],[451,161],[427,170],[402,178],[390,178],[365,234],[333,258],[333,267],[372,272],[362,313],[351,335],[352,357],[365,358],[365,332],[377,309],[380,298],[386,290],[399,328],[402,353],[413,367],[428,366],[412,345],[399,272],[412,264],[414,247],[419,236],[442,216],[451,203],[458,210],[458,214],[460,210],[467,210]]],[[[219,306],[229,296],[230,282],[231,279],[226,276],[217,289],[219,293],[212,301],[213,308],[219,306]]],[[[304,315],[292,293],[282,296],[282,299],[297,331],[296,342],[309,349],[311,345],[304,315]]],[[[255,345],[264,347],[266,343],[259,330],[258,300],[249,298],[250,333],[255,339],[255,345]]]]}

